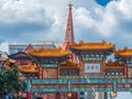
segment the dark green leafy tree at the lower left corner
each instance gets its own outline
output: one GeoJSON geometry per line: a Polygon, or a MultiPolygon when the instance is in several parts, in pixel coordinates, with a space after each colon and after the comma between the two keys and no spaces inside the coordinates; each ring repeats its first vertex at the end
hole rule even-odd
{"type": "Polygon", "coordinates": [[[7,70],[0,74],[0,96],[4,96],[10,92],[22,91],[22,84],[19,79],[18,68],[7,70]]]}

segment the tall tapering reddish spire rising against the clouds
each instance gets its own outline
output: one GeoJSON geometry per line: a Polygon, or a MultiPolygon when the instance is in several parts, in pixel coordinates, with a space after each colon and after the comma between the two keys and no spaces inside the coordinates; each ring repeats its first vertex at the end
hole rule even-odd
{"type": "Polygon", "coordinates": [[[66,34],[65,34],[65,42],[68,42],[69,44],[75,43],[72,7],[73,4],[69,3],[68,4],[68,19],[67,19],[66,34]]]}

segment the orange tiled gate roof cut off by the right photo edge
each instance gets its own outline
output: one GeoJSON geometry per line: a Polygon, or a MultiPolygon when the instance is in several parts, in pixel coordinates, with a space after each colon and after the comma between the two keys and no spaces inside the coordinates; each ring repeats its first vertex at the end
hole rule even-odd
{"type": "Polygon", "coordinates": [[[123,50],[114,51],[114,54],[123,57],[132,57],[132,48],[124,47],[123,50]]]}

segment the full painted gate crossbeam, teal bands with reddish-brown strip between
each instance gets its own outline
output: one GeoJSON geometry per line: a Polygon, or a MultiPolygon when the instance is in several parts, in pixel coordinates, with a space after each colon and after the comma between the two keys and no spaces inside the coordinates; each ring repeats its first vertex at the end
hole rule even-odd
{"type": "Polygon", "coordinates": [[[32,92],[132,91],[130,78],[25,79],[24,82],[25,91],[32,92]]]}

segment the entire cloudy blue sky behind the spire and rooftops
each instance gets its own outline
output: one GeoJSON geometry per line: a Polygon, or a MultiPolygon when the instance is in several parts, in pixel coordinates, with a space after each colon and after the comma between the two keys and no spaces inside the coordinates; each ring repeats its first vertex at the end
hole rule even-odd
{"type": "Polygon", "coordinates": [[[0,0],[0,43],[64,41],[69,2],[76,42],[105,40],[117,48],[132,47],[132,0],[0,0]]]}

